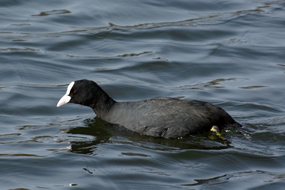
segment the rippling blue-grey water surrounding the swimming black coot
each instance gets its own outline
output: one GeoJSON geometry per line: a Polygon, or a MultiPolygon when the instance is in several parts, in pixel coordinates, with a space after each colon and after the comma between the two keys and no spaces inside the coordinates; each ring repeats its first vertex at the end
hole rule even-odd
{"type": "Polygon", "coordinates": [[[0,2],[0,189],[285,189],[285,1],[0,2]],[[183,139],[56,107],[94,80],[117,101],[208,101],[243,125],[183,139]]]}

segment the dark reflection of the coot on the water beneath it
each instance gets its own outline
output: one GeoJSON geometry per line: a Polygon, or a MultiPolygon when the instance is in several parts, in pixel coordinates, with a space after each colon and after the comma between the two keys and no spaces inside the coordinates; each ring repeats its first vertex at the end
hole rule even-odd
{"type": "MultiPolygon", "coordinates": [[[[222,150],[233,148],[233,146],[231,146],[231,138],[229,138],[227,133],[237,133],[238,135],[240,133],[235,129],[235,131],[227,130],[227,132],[222,132],[222,138],[217,136],[214,132],[208,132],[205,134],[190,135],[189,137],[182,139],[165,139],[143,136],[127,130],[124,127],[108,124],[98,117],[86,119],[84,120],[84,123],[86,126],[61,130],[67,134],[72,134],[68,135],[70,139],[73,137],[76,138],[76,140],[70,142],[71,146],[69,150],[71,152],[96,155],[96,149],[100,144],[104,143],[130,144],[162,151],[187,149],[222,150]]],[[[125,154],[129,155],[132,153],[127,152],[125,154]]]]}

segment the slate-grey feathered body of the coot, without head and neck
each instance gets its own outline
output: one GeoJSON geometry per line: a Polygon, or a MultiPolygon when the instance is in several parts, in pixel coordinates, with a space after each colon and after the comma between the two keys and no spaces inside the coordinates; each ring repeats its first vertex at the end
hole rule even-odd
{"type": "Polygon", "coordinates": [[[213,104],[168,97],[117,102],[100,117],[141,134],[164,138],[207,132],[213,125],[220,129],[241,126],[213,104]]]}

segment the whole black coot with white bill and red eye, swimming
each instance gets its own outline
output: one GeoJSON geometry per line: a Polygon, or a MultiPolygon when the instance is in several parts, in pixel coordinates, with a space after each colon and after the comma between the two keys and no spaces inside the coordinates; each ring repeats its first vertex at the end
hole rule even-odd
{"type": "Polygon", "coordinates": [[[70,83],[57,107],[68,102],[91,107],[108,123],[155,137],[178,138],[207,132],[213,126],[220,130],[241,127],[223,109],[207,102],[168,97],[117,102],[97,83],[86,79],[70,83]]]}

